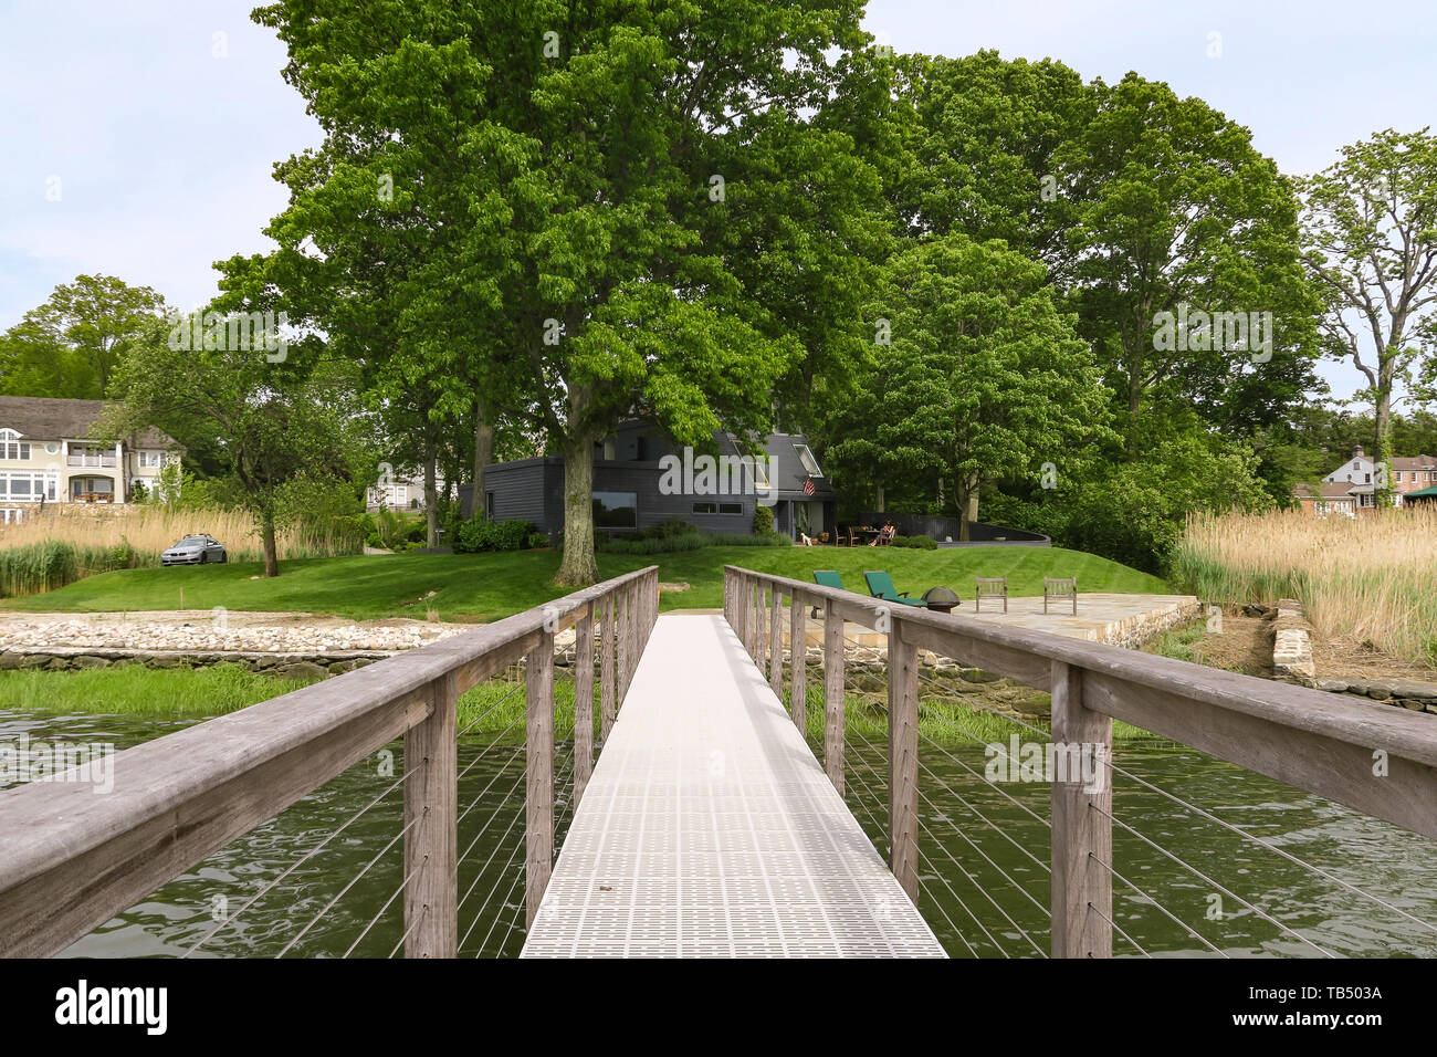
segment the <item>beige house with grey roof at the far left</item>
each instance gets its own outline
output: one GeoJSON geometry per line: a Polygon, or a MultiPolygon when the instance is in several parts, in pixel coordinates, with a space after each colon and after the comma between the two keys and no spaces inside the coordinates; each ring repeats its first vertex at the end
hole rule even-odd
{"type": "Polygon", "coordinates": [[[154,427],[114,446],[91,440],[103,408],[99,400],[0,397],[0,523],[49,503],[125,503],[137,485],[152,492],[160,472],[178,465],[180,446],[154,427]]]}

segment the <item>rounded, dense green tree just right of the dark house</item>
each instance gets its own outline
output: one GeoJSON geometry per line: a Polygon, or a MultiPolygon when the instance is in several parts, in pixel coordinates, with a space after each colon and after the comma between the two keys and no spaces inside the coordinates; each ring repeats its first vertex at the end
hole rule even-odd
{"type": "Polygon", "coordinates": [[[964,538],[984,483],[1073,472],[1112,437],[1111,394],[1055,302],[1043,266],[1002,242],[948,234],[895,255],[874,305],[891,344],[845,414],[839,466],[941,496],[964,538]]]}

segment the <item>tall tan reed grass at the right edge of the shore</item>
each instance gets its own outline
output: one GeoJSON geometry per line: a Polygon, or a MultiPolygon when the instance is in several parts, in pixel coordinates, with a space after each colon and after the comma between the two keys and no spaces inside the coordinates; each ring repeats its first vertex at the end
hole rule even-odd
{"type": "Polygon", "coordinates": [[[1323,636],[1437,664],[1437,506],[1194,516],[1171,578],[1213,603],[1296,598],[1323,636]]]}

